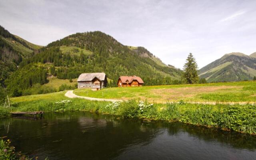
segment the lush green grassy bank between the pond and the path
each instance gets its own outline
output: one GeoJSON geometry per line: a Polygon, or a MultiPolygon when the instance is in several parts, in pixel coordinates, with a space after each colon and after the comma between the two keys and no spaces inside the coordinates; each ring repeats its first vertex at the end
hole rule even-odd
{"type": "Polygon", "coordinates": [[[243,133],[256,133],[256,106],[225,104],[148,103],[137,100],[125,102],[90,101],[67,98],[66,92],[11,98],[11,108],[2,108],[0,113],[10,112],[64,112],[90,111],[128,118],[178,121],[207,127],[219,127],[243,133]]]}

